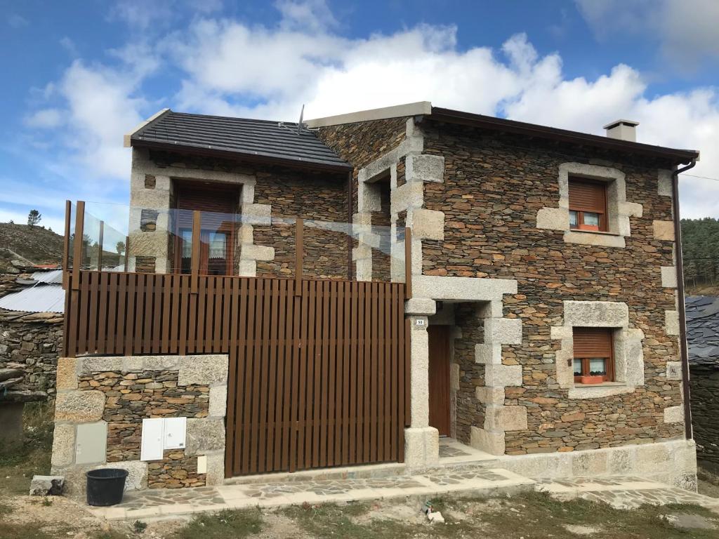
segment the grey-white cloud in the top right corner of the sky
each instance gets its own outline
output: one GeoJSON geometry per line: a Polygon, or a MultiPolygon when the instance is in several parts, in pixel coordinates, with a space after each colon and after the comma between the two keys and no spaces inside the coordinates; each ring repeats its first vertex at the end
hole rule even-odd
{"type": "Polygon", "coordinates": [[[575,0],[597,37],[641,35],[659,42],[677,66],[695,68],[719,57],[716,0],[575,0]]]}

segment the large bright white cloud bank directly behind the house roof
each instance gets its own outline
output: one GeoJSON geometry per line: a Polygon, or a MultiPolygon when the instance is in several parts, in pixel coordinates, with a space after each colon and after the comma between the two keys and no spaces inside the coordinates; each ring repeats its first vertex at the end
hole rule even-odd
{"type": "MultiPolygon", "coordinates": [[[[646,80],[628,65],[597,78],[567,78],[559,54],[540,55],[525,34],[510,37],[501,50],[462,50],[456,27],[427,24],[349,39],[335,29],[334,18],[319,17],[319,26],[311,20],[324,13],[321,2],[278,7],[281,19],[273,26],[195,19],[157,40],[111,51],[114,68],[75,60],[45,93],[63,99],[63,140],[71,141],[88,177],[127,180],[129,152],[121,136],[160,106],[293,121],[303,103],[310,118],[432,101],[596,134],[613,119],[636,119],[641,142],[702,149],[696,173],[719,178],[719,158],[712,155],[719,147],[713,88],[649,97],[646,80]],[[180,71],[180,90],[151,106],[142,85],[160,65],[180,71]]],[[[169,80],[168,91],[177,84],[169,80]]],[[[718,215],[712,201],[719,182],[683,185],[685,216],[718,215]]]]}

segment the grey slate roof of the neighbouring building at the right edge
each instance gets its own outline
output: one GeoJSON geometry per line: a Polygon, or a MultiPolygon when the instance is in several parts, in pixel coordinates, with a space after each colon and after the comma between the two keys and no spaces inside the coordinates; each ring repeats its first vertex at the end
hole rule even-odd
{"type": "Polygon", "coordinates": [[[687,296],[687,345],[690,364],[719,367],[719,298],[687,296]]]}

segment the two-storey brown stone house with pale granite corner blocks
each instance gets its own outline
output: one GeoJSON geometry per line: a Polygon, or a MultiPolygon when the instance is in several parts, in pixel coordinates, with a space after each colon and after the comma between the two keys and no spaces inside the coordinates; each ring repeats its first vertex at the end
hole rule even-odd
{"type": "MultiPolygon", "coordinates": [[[[530,476],[641,474],[693,487],[695,446],[685,421],[688,402],[682,400],[687,361],[680,346],[673,180],[677,167],[691,165],[698,154],[635,142],[636,125],[616,121],[600,137],[426,102],[315,119],[306,126],[161,111],[125,141],[133,157],[131,277],[119,277],[118,286],[140,287],[145,302],[157,290],[168,295],[152,296],[154,322],[150,316],[135,319],[135,333],[142,326],[144,336],[130,335],[126,324],[118,330],[122,335],[109,337],[115,338],[111,346],[93,326],[85,338],[91,322],[81,306],[75,318],[68,316],[76,326],[70,326],[68,357],[58,367],[54,471],[71,475],[122,465],[131,469],[133,487],[190,487],[244,473],[377,462],[399,463],[411,473],[445,463],[442,448],[454,440],[469,460],[530,476]],[[205,231],[198,211],[237,220],[228,226],[227,218],[208,217],[205,231]],[[295,219],[353,226],[315,224],[301,236],[295,219]],[[297,262],[300,251],[303,262],[297,262]],[[303,267],[300,275],[296,267],[303,267]],[[386,334],[381,327],[376,338],[365,333],[367,361],[379,356],[380,362],[367,364],[362,382],[362,369],[333,362],[343,328],[349,346],[356,346],[354,337],[347,338],[354,328],[338,323],[336,333],[322,341],[319,315],[309,318],[307,326],[318,328],[316,341],[310,339],[314,360],[329,357],[327,369],[317,364],[311,394],[304,374],[298,385],[290,383],[290,363],[278,363],[275,371],[273,353],[281,354],[271,346],[292,339],[290,324],[283,341],[280,314],[278,334],[271,333],[274,323],[263,326],[269,342],[280,343],[270,345],[269,371],[262,370],[262,356],[255,382],[247,374],[242,386],[238,373],[252,361],[247,339],[239,336],[245,344],[234,356],[220,346],[233,326],[219,316],[234,294],[226,292],[228,286],[235,290],[228,280],[187,281],[203,298],[210,287],[216,306],[215,322],[201,326],[202,316],[186,322],[180,305],[178,338],[187,331],[182,338],[191,340],[189,347],[157,353],[172,348],[171,328],[167,339],[152,343],[152,328],[165,331],[161,318],[174,312],[162,311],[174,301],[167,299],[170,292],[186,292],[183,279],[160,276],[191,272],[247,277],[242,282],[250,283],[252,298],[276,296],[280,310],[281,298],[287,305],[294,292],[305,298],[298,288],[303,278],[343,282],[349,287],[344,290],[356,282],[377,283],[362,290],[367,302],[388,301],[382,305],[404,298],[389,290],[406,281],[407,300],[399,312],[406,333],[390,331],[395,319],[389,310],[386,334]],[[273,284],[253,284],[264,279],[273,284]],[[204,341],[198,348],[195,340],[207,331],[217,332],[214,344],[204,341]],[[329,351],[319,341],[329,343],[329,351]],[[280,371],[283,365],[289,378],[280,371]],[[355,375],[359,397],[352,393],[355,375]],[[366,395],[374,395],[367,401],[371,410],[353,420],[351,405],[360,403],[362,383],[370,387],[366,395]],[[375,383],[388,384],[387,391],[373,393],[375,383]],[[255,387],[264,389],[248,391],[255,387]],[[297,391],[300,405],[316,403],[314,422],[311,414],[298,417],[297,391]],[[343,407],[347,395],[349,412],[343,407]],[[253,408],[255,398],[260,404],[253,408]],[[289,415],[280,418],[280,409],[289,415]],[[248,420],[257,410],[260,415],[248,420]],[[390,420],[383,410],[400,415],[390,420]],[[158,436],[180,428],[186,443],[143,455],[151,436],[143,420],[162,418],[180,419],[180,426],[168,423],[158,436]],[[328,418],[335,430],[325,430],[317,418],[328,418]],[[359,440],[365,425],[369,443],[362,448],[354,435],[359,440]],[[280,440],[290,444],[289,461],[286,447],[278,449],[280,440]],[[293,464],[294,452],[305,448],[293,464]]],[[[116,293],[111,284],[103,288],[102,278],[83,277],[75,267],[73,272],[70,293],[81,298],[78,305],[83,287],[116,293]]],[[[315,307],[302,311],[306,317],[320,312],[321,285],[316,296],[312,286],[315,307]]],[[[325,299],[345,298],[341,287],[327,286],[325,299]]],[[[196,293],[188,290],[188,301],[196,293]]],[[[139,301],[134,294],[132,301],[139,301]]],[[[342,302],[334,311],[321,311],[325,326],[337,316],[350,320],[350,310],[363,313],[362,302],[354,300],[347,298],[346,311],[342,302]]],[[[193,312],[209,309],[206,301],[188,305],[193,312]]],[[[229,305],[232,315],[235,303],[229,305]]],[[[119,319],[124,310],[107,316],[119,319]]],[[[247,320],[257,319],[247,312],[247,320]]],[[[261,313],[258,306],[255,314],[261,313]]],[[[101,311],[99,320],[109,328],[104,316],[101,311]]],[[[240,314],[240,333],[243,320],[240,314]]],[[[301,327],[297,331],[306,331],[301,327]]],[[[327,327],[322,331],[333,331],[333,323],[327,327]]],[[[265,345],[255,346],[255,354],[264,353],[265,345]]]]}

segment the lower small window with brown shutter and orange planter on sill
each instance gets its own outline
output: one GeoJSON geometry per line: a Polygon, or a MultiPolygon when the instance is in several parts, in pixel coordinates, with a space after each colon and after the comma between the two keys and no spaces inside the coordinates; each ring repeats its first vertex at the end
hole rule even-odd
{"type": "Polygon", "coordinates": [[[596,384],[614,380],[611,328],[573,328],[574,382],[596,384]]]}

